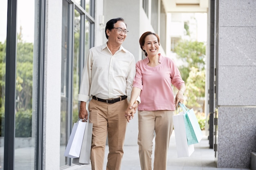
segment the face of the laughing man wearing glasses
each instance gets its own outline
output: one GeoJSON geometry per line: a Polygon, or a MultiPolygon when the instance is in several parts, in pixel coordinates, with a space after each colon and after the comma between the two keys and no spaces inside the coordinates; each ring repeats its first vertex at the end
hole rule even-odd
{"type": "Polygon", "coordinates": [[[122,21],[117,21],[117,23],[114,24],[114,28],[111,30],[107,30],[108,34],[108,42],[121,45],[125,38],[126,38],[126,25],[122,21]]]}

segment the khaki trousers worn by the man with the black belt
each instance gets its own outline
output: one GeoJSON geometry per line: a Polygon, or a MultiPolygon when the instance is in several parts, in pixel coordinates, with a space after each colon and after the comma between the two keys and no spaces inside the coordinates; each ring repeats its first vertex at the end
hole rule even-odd
{"type": "Polygon", "coordinates": [[[107,104],[92,99],[89,102],[89,122],[92,128],[92,170],[103,170],[106,138],[108,136],[108,163],[107,170],[120,170],[121,159],[124,155],[124,137],[127,120],[125,110],[128,107],[126,100],[107,104]]]}

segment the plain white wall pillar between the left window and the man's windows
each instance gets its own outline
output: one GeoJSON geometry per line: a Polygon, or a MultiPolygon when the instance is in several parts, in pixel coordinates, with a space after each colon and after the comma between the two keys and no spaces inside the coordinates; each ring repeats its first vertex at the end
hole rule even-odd
{"type": "Polygon", "coordinates": [[[60,168],[62,0],[48,0],[45,26],[45,170],[60,168]],[[58,44],[58,45],[56,45],[58,44]],[[59,64],[57,64],[59,63],[59,64]]]}

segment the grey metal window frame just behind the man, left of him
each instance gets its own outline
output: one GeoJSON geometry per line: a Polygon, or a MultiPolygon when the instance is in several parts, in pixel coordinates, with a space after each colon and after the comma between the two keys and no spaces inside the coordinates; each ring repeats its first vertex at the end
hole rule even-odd
{"type": "MultiPolygon", "coordinates": [[[[72,110],[72,106],[73,106],[73,60],[74,60],[74,18],[75,18],[75,10],[77,12],[79,12],[80,14],[80,38],[79,38],[79,85],[81,83],[81,77],[82,77],[82,71],[83,71],[83,66],[84,66],[84,57],[86,56],[85,54],[88,53],[88,51],[85,51],[85,24],[86,24],[86,20],[88,20],[88,22],[90,22],[90,47],[94,46],[94,24],[95,24],[95,19],[94,19],[94,15],[95,15],[95,0],[90,0],[90,13],[87,13],[85,10],[85,0],[81,0],[81,4],[78,4],[76,2],[74,2],[74,0],[65,0],[70,4],[69,7],[69,23],[68,23],[68,35],[70,35],[68,37],[68,41],[70,43],[68,43],[67,46],[67,51],[68,51],[68,57],[69,57],[69,62],[68,62],[68,75],[67,77],[64,77],[67,79],[67,83],[68,85],[66,86],[68,89],[66,89],[66,92],[68,93],[68,105],[69,107],[67,108],[67,130],[66,130],[66,137],[67,137],[67,141],[70,137],[70,133],[72,131],[72,126],[73,126],[73,122],[72,122],[72,117],[73,117],[73,110],[72,110]]],[[[71,158],[67,158],[67,164],[65,164],[64,166],[61,166],[60,168],[63,169],[66,166],[71,166],[72,165],[72,160],[71,158]]]]}

